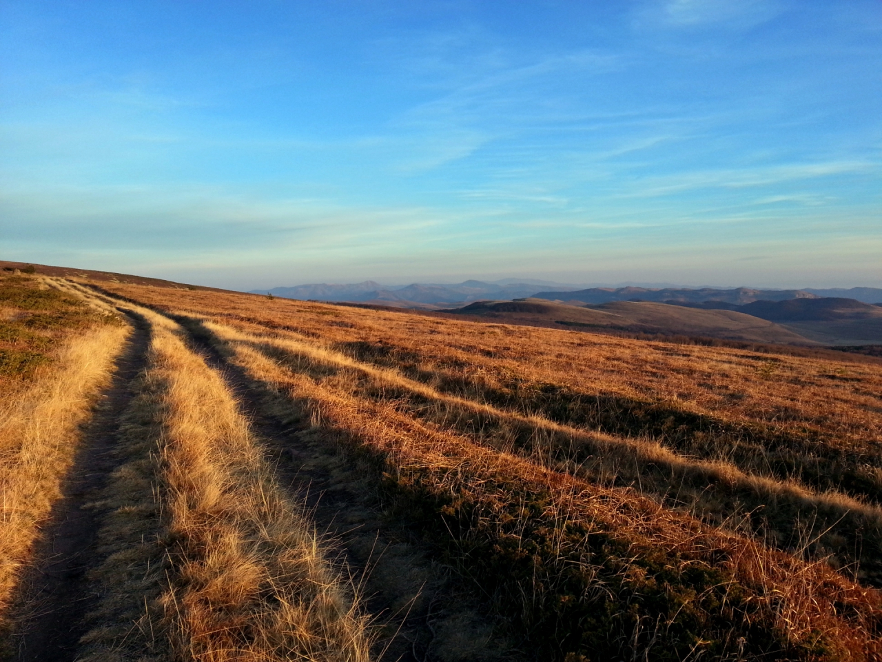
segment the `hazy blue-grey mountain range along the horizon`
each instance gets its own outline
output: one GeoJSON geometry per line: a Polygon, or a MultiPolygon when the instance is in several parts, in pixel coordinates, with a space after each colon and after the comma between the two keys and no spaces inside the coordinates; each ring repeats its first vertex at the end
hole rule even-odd
{"type": "MultiPolygon", "coordinates": [[[[252,290],[255,294],[272,294],[290,299],[315,299],[318,301],[353,301],[403,307],[451,307],[482,300],[505,300],[536,297],[551,301],[570,301],[598,305],[613,301],[657,301],[683,304],[703,302],[746,305],[754,301],[787,301],[818,297],[849,298],[866,304],[882,302],[882,289],[852,288],[805,289],[805,290],[754,290],[736,288],[587,288],[524,279],[505,279],[497,282],[465,281],[456,284],[413,283],[405,286],[382,285],[375,281],[352,284],[316,283],[296,287],[279,287],[272,290],[252,290]],[[555,286],[550,289],[549,285],[555,286]],[[544,286],[544,288],[542,287],[544,286]]],[[[710,307],[710,306],[707,306],[710,307]]],[[[718,308],[721,306],[717,306],[718,308]]]]}

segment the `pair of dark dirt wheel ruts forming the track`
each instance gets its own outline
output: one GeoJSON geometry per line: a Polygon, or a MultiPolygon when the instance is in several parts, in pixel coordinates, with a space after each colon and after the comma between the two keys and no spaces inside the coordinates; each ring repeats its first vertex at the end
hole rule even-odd
{"type": "MultiPolygon", "coordinates": [[[[115,454],[120,419],[137,395],[136,380],[146,368],[150,324],[124,312],[135,327],[116,362],[113,380],[84,429],[82,448],[64,484],[34,568],[23,578],[24,599],[13,643],[17,662],[78,658],[79,640],[90,624],[86,615],[98,594],[86,577],[101,565],[96,551],[100,499],[108,476],[125,462],[115,454]]],[[[370,470],[341,452],[321,430],[301,420],[288,403],[250,379],[216,349],[198,321],[174,318],[189,333],[191,347],[221,373],[243,413],[264,440],[281,485],[305,503],[336,560],[353,577],[363,606],[372,614],[382,660],[516,659],[494,635],[493,621],[448,568],[412,539],[407,527],[392,523],[380,508],[370,470]]]]}

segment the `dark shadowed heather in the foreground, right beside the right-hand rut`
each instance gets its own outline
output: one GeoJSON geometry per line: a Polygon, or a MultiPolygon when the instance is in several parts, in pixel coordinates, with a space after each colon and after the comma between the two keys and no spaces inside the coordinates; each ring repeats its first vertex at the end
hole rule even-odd
{"type": "MultiPolygon", "coordinates": [[[[296,391],[291,397],[304,416],[321,414],[296,391]]],[[[387,515],[475,583],[537,658],[681,660],[699,651],[710,658],[831,658],[825,648],[833,642],[820,632],[792,643],[753,613],[755,589],[726,569],[725,553],[716,559],[702,545],[672,551],[622,530],[614,535],[603,523],[579,519],[565,495],[528,480],[460,480],[443,468],[402,467],[328,420],[325,432],[373,467],[387,515]]]]}

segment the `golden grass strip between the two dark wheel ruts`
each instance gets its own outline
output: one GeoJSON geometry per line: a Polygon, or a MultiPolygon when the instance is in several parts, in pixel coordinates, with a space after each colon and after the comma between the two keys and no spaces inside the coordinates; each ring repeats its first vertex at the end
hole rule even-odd
{"type": "Polygon", "coordinates": [[[299,506],[275,484],[220,375],[185,346],[175,322],[132,307],[153,326],[141,406],[158,432],[132,442],[137,456],[108,494],[115,509],[103,538],[116,553],[96,574],[106,584],[95,614],[104,622],[86,636],[89,659],[135,655],[126,637],[138,629],[142,641],[148,630],[151,641],[168,641],[174,658],[367,660],[356,601],[299,506]],[[150,537],[132,518],[150,519],[148,485],[161,517],[145,549],[150,537]],[[136,493],[125,493],[132,486],[136,493]],[[147,565],[153,584],[132,575],[132,560],[147,565]],[[145,591],[135,623],[126,596],[133,582],[145,591]]]}

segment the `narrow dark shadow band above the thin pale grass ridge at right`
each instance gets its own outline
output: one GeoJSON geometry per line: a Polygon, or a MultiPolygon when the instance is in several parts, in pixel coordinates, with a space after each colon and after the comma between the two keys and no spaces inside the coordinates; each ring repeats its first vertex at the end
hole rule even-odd
{"type": "Polygon", "coordinates": [[[358,360],[396,368],[447,395],[538,414],[561,425],[657,440],[681,455],[724,459],[745,472],[796,480],[819,491],[835,490],[882,504],[882,455],[833,448],[811,432],[783,432],[759,423],[732,424],[666,403],[579,392],[518,377],[494,386],[456,372],[424,370],[419,367],[418,352],[390,342],[340,342],[336,347],[358,360]]]}

